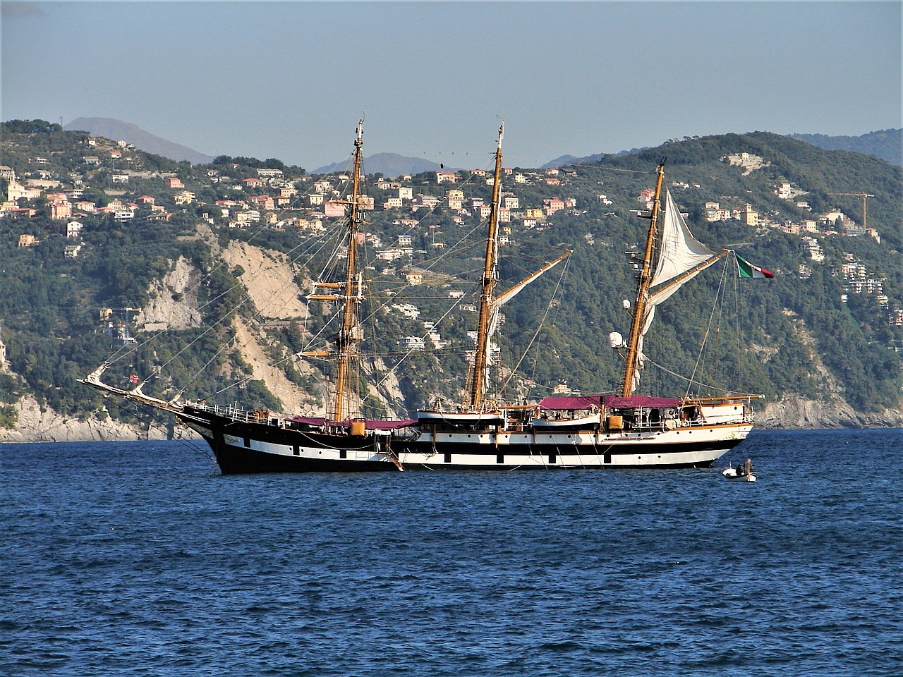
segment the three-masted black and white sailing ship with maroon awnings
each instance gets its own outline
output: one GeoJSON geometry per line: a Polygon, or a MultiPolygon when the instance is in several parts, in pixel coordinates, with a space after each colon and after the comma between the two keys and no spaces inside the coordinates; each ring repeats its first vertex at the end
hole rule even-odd
{"type": "MultiPolygon", "coordinates": [[[[499,205],[504,124],[498,129],[485,256],[479,279],[476,349],[469,360],[461,403],[435,403],[407,420],[368,420],[360,415],[358,369],[363,330],[361,303],[366,284],[358,263],[363,120],[354,142],[354,170],[347,232],[338,279],[314,283],[312,301],[335,303],[340,329],[327,348],[305,355],[330,359],[332,392],[326,411],[316,416],[276,416],[179,399],[164,400],[107,385],[107,365],[82,379],[105,394],[150,405],[196,431],[225,474],[263,472],[358,472],[403,470],[514,470],[604,468],[704,468],[746,439],[758,395],[658,397],[640,394],[645,362],[644,337],[656,306],[696,274],[731,254],[714,253],[687,227],[668,190],[665,162],[656,172],[656,189],[646,246],[633,256],[635,300],[624,301],[631,318],[627,339],[610,334],[610,347],[624,362],[619,392],[553,395],[538,403],[503,403],[487,396],[495,359],[493,336],[500,309],[527,284],[561,263],[570,251],[504,291],[499,283],[499,205]],[[663,204],[664,203],[664,204],[663,204]]],[[[745,262],[744,262],[745,263],[745,262]]]]}

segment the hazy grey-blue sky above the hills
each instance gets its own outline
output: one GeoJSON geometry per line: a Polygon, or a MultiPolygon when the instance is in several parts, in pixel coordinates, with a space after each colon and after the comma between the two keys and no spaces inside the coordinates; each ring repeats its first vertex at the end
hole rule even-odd
{"type": "Polygon", "coordinates": [[[901,123],[899,2],[3,2],[2,117],[211,155],[538,166],[684,135],[901,123]]]}

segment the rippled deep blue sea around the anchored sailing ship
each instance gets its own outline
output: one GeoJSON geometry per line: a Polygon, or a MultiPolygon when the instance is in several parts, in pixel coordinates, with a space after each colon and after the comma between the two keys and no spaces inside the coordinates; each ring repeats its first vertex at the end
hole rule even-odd
{"type": "Polygon", "coordinates": [[[223,477],[0,446],[0,675],[901,675],[903,431],[716,469],[223,477]]]}

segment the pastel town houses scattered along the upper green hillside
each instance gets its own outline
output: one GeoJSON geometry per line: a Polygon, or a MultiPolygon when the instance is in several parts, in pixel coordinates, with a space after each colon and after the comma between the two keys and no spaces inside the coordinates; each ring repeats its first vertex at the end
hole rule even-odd
{"type": "MultiPolygon", "coordinates": [[[[343,199],[349,190],[347,172],[309,176],[289,168],[248,168],[238,162],[190,166],[188,172],[163,172],[142,167],[141,153],[125,141],[88,136],[81,143],[81,154],[75,162],[72,158],[61,162],[49,154],[29,157],[20,172],[0,166],[0,178],[7,186],[0,218],[21,223],[18,246],[40,246],[42,237],[47,236],[28,227],[39,209],[60,224],[52,236],[64,236],[67,245],[63,255],[75,258],[85,246],[81,231],[86,218],[108,218],[127,227],[136,218],[154,223],[182,214],[210,226],[291,229],[302,236],[316,237],[325,232],[330,221],[344,217],[348,208],[343,199]]],[[[746,152],[725,155],[721,162],[737,167],[743,176],[768,167],[763,158],[746,152]]],[[[569,184],[577,175],[573,167],[533,171],[506,167],[503,172],[505,183],[498,209],[501,246],[511,244],[518,234],[554,225],[561,215],[579,217],[589,208],[569,194],[569,184]],[[557,195],[528,202],[522,196],[523,189],[535,186],[557,195]]],[[[429,276],[424,278],[416,263],[442,253],[446,238],[450,237],[449,227],[472,226],[489,218],[491,208],[486,191],[478,194],[479,190],[475,190],[480,184],[491,188],[493,179],[485,169],[428,172],[425,181],[424,175],[412,174],[394,178],[377,174],[369,179],[369,194],[365,191],[360,197],[360,208],[379,212],[391,228],[384,229],[381,235],[366,232],[361,237],[372,246],[382,265],[379,272],[396,274],[409,285],[429,283],[429,276]],[[386,241],[385,233],[389,231],[392,239],[386,241]]],[[[761,209],[737,196],[713,199],[714,196],[705,195],[698,183],[672,181],[671,188],[684,209],[701,210],[702,217],[710,223],[735,221],[756,236],[766,236],[769,230],[797,236],[799,278],[811,276],[815,266],[827,265],[831,274],[842,280],[842,301],[846,302],[851,294],[870,295],[886,314],[885,321],[903,326],[903,302],[884,292],[884,277],[846,251],[842,260],[827,260],[824,253],[824,242],[838,238],[842,241],[870,237],[880,243],[878,229],[869,227],[865,220],[866,200],[873,197],[867,192],[839,193],[861,198],[862,214],[857,220],[840,209],[813,213],[805,200],[806,187],[791,181],[774,182],[774,194],[792,205],[796,214],[808,212],[810,217],[787,218],[776,209],[761,209]]],[[[648,213],[653,192],[651,188],[641,190],[636,196],[640,209],[631,211],[637,215],[648,213]]],[[[606,192],[598,191],[594,200],[602,209],[613,205],[606,192]]],[[[614,211],[601,213],[615,216],[614,211]]],[[[456,290],[448,293],[453,295],[456,290]]],[[[464,303],[462,307],[467,310],[472,305],[464,303]]],[[[406,312],[410,316],[414,311],[406,312]]],[[[402,345],[422,349],[425,338],[429,338],[434,347],[442,347],[438,332],[432,327],[425,329],[423,337],[402,338],[402,345]]]]}

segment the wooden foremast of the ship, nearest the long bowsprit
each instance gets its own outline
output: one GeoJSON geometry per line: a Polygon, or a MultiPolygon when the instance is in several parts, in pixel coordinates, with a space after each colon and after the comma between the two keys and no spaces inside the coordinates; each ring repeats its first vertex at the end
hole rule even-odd
{"type": "Polygon", "coordinates": [[[337,341],[339,352],[336,372],[336,394],[332,407],[335,421],[341,421],[349,408],[349,365],[357,355],[361,331],[358,325],[358,303],[360,283],[358,277],[358,191],[360,190],[360,154],[364,145],[364,120],[358,122],[357,138],[354,141],[354,181],[351,190],[351,214],[348,222],[348,270],[345,275],[345,308],[337,341]],[[358,285],[358,290],[355,290],[358,285]]]}

